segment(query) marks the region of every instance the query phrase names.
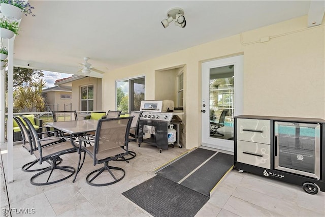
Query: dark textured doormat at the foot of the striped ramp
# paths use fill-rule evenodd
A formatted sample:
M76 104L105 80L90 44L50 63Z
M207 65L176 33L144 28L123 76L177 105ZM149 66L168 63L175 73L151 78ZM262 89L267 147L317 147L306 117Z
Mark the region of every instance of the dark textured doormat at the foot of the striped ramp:
M153 216L194 216L209 200L205 195L158 175L122 195Z

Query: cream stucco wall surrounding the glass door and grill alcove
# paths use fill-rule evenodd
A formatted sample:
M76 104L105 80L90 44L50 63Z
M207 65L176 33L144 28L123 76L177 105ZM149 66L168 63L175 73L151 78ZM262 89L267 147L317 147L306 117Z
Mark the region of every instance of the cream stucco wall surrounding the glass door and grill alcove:
M202 63L243 54L243 114L325 119L324 25L306 26L303 16L112 70L103 78L105 98L115 99L116 79L145 75L146 99L155 99L155 71L186 65L186 148L200 146ZM114 108L104 100L105 110Z

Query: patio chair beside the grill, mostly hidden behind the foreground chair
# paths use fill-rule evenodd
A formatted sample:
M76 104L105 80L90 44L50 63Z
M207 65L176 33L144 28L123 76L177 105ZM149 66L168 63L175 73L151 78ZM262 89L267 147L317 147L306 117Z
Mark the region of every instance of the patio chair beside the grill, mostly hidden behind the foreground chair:
M130 132L129 132L129 137L128 137L129 142L137 142L139 120L140 120L141 114L142 114L142 111L132 111L129 115L129 116L133 116ZM115 161L128 161L128 160L134 159L136 156L137 156L136 152L129 150L127 156L124 156L124 158L118 158Z

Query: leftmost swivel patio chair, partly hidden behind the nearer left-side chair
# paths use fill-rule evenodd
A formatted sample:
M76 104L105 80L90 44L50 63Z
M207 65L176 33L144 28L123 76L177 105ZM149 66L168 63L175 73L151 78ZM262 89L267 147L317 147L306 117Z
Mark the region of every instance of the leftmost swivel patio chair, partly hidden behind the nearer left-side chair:
M27 150L29 152L29 154L32 154L34 150L37 150L38 147L34 145L34 143L32 143L32 139L31 139L31 135L29 133L29 130L27 129L27 127L24 125L23 121L19 118L19 117L15 117L14 119L16 120L18 126L20 127L21 132L23 132L23 138L24 138L24 143L22 145L22 147ZM27 125L27 123L26 123ZM47 132L44 132L44 134L46 134ZM43 133L41 133L43 134ZM38 133L38 135L40 135L40 133ZM39 136L40 137L40 136ZM39 138L38 137L38 138ZM61 139L57 138L57 137L47 137L46 141L42 141L41 145L43 146L47 146L47 145L52 145L55 143L60 142ZM30 169L32 166L34 166L36 163L38 162L38 160L34 160L32 162L29 162L25 165L23 165L21 167L21 170L24 172L36 172L36 171L41 171L44 170L46 168L39 168L39 169ZM61 161L58 162L58 164L61 163Z

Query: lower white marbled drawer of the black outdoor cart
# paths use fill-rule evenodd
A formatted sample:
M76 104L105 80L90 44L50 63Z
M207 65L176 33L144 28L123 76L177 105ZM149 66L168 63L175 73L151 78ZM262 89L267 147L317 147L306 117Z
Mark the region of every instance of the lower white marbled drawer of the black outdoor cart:
M267 144L237 140L237 162L270 169L270 149Z

